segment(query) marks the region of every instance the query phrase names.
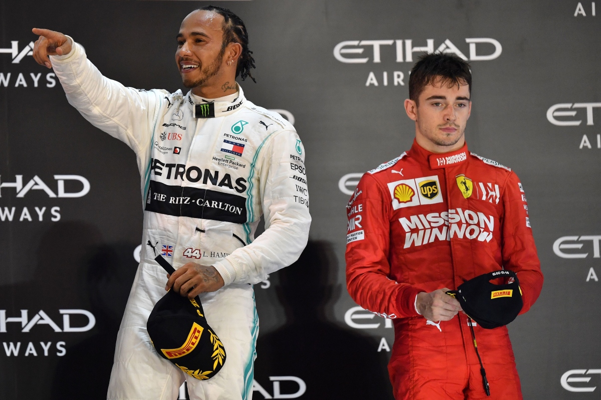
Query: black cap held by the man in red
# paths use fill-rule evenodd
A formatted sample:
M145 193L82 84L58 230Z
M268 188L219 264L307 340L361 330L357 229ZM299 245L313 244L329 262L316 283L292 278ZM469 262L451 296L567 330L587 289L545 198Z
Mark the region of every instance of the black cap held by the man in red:
M496 278L505 278L507 283L496 285L490 282ZM456 297L463 312L484 329L507 325L516 319L523 306L517 275L509 270L476 276L447 294Z

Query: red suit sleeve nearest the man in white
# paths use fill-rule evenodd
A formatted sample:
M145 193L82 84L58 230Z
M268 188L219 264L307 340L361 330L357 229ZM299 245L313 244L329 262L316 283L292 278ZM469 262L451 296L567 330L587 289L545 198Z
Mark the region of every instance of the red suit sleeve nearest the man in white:
M347 205L346 282L355 302L391 318L415 317L415 296L421 291L388 278L391 199L369 173Z

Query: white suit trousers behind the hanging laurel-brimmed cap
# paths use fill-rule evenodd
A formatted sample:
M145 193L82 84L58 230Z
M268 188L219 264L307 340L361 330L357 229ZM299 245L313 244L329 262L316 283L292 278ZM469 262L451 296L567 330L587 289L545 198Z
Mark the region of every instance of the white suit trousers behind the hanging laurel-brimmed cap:
M146 330L154 305L165 295L166 272L141 263L117 336L107 399L176 400L188 382L191 400L251 400L258 315L252 285L229 285L200 300L224 344L223 368L209 380L192 378L156 353Z

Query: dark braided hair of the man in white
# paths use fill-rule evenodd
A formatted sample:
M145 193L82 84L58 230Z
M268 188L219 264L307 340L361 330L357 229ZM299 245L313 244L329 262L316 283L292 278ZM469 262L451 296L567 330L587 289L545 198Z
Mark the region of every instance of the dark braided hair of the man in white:
M206 5L197 8L197 11L215 11L224 17L224 42L221 49L224 51L228 44L239 43L240 46L242 46L242 54L238 59L236 77L240 76L242 80L245 80L246 77L250 77L252 82L257 83L255 78L251 75L251 68L257 67L255 67L255 59L252 58L251 50L248 50L248 32L246 32L246 26L244 25L244 22L242 22L242 19L227 8L217 7L216 5Z

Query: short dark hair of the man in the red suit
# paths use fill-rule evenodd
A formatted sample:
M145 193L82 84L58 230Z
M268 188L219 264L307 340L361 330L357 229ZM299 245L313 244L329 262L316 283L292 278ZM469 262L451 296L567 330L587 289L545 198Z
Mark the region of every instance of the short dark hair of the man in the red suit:
M454 54L432 53L419 58L409 75L409 98L418 103L421 92L427 85L441 80L443 85L468 85L472 93L472 73L469 64Z

